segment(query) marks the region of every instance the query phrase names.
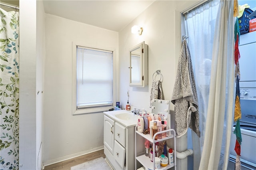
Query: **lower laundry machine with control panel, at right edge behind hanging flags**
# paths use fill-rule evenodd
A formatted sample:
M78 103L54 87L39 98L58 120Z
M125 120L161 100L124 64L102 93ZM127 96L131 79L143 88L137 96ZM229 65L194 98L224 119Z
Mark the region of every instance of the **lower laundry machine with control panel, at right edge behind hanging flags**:
M256 170L256 87L249 87L250 83L252 82L246 85L246 82L244 82L247 87L240 87L242 112L242 119L240 119L242 135L240 161L245 169ZM234 124L230 140L230 161L232 162L236 160L234 150L236 144L235 127Z

